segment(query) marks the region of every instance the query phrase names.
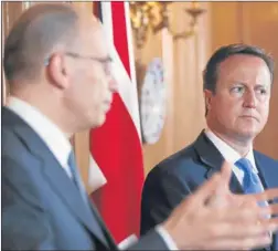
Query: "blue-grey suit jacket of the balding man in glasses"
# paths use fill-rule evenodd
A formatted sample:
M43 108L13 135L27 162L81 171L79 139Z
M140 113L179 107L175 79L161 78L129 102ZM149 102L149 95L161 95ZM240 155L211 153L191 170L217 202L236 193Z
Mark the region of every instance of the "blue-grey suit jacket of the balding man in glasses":
M117 250L95 207L85 207L45 143L6 107L1 230L3 250ZM167 249L156 231L130 249L152 248Z

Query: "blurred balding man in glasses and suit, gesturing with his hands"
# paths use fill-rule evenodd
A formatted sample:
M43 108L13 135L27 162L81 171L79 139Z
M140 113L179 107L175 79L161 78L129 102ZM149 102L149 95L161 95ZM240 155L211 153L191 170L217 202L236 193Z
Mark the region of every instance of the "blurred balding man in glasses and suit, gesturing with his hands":
M117 249L88 200L68 140L105 122L117 90L109 62L99 22L70 4L34 6L11 29L3 60L11 90L2 108L3 250ZM130 249L242 249L269 243L261 234L274 231L278 222L261 213L278 209L261 209L254 201L278 196L278 190L256 198L233 196L225 189L228 168L223 170ZM231 208L207 202L226 201L215 194L217 188L234 198ZM243 203L243 198L249 202ZM203 223L207 217L211 220ZM245 226L235 232L242 222ZM221 229L221 234L211 234L213 229Z

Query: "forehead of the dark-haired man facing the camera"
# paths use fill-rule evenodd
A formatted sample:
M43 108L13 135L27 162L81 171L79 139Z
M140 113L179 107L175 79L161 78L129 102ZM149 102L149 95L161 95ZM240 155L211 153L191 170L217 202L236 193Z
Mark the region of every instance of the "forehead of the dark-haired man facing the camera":
M236 54L223 61L218 66L218 77L223 79L269 79L270 72L266 62L254 55Z

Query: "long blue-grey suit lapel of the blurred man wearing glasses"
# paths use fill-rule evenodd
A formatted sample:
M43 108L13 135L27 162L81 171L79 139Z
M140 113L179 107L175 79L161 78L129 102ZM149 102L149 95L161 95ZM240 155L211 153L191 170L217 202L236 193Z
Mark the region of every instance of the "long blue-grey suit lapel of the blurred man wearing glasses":
M106 240L97 231L98 222L94 219L92 212L85 207L79 191L74 182L67 177L54 155L51 153L45 143L26 125L18 115L7 108L2 108L6 116L7 125L13 129L25 147L42 160L42 172L45 180L60 196L61 200L67 206L74 217L84 224L104 245L107 247ZM101 226L105 229L104 226Z

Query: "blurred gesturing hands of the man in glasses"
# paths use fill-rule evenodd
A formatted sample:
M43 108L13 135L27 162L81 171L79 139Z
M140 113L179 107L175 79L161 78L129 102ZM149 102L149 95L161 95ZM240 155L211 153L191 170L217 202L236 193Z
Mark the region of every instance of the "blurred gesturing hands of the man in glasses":
M277 231L278 206L259 207L258 201L278 197L278 189L259 195L233 195L228 189L232 168L225 163L192 196L178 206L163 223L179 249L248 250L271 243Z

